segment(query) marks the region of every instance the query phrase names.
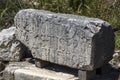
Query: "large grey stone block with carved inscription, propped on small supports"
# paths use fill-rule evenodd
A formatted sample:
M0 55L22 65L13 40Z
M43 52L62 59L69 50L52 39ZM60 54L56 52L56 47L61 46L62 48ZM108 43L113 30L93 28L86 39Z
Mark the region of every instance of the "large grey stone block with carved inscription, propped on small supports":
M93 70L111 60L114 53L111 25L97 18L27 9L14 20L17 39L37 59Z

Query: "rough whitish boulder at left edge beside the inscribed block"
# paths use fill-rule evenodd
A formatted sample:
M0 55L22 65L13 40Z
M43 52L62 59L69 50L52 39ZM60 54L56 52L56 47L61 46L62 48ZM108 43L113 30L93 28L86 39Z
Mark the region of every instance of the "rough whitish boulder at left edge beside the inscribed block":
M15 38L15 27L0 32L0 61L19 61L25 47Z

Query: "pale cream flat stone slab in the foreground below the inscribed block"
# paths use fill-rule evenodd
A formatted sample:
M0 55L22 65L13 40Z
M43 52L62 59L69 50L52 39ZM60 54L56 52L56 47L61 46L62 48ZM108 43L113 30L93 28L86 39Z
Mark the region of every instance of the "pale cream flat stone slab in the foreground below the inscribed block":
M4 73L4 80L77 80L72 74L40 69L27 62L11 63Z

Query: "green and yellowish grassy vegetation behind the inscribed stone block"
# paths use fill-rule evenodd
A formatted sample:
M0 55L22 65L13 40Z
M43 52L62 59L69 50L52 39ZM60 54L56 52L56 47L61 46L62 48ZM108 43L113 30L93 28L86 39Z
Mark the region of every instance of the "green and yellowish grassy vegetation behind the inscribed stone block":
M59 13L69 13L96 17L108 21L114 30L120 30L120 1L113 0L1 0L0 29L13 24L15 14L20 9L44 9ZM34 2L38 4L35 5ZM120 49L119 36L116 38L116 48Z

